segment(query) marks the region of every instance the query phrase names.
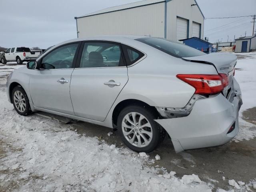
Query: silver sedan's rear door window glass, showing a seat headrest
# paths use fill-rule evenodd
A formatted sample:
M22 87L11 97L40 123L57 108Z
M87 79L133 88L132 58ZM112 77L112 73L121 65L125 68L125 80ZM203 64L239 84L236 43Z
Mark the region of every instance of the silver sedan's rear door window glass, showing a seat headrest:
M84 44L80 68L125 66L120 46L105 42Z

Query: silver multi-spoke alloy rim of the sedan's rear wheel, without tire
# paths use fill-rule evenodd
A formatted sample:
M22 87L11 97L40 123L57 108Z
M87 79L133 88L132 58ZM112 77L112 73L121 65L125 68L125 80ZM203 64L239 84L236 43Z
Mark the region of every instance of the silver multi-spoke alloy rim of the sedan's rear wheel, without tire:
M130 112L122 120L122 132L128 142L136 147L146 147L153 136L148 119L138 112Z

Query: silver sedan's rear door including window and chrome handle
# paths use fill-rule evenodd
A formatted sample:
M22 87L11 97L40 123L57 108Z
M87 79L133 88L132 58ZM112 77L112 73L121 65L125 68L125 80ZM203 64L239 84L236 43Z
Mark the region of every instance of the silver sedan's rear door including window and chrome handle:
M84 42L72 73L70 96L76 116L104 121L128 81L120 44Z

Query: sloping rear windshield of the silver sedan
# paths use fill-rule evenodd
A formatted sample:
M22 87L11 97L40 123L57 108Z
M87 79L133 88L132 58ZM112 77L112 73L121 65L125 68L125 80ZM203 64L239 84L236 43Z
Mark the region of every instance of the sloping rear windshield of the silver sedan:
M163 39L163 38L147 37L147 38L139 38L136 40L178 58L194 57L194 56L200 56L205 54L204 52L199 51L190 46L177 43L174 41L170 41L167 39Z

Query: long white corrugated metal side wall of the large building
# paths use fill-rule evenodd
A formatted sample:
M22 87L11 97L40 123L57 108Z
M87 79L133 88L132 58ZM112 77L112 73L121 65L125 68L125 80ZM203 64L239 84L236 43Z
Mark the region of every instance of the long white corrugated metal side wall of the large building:
M164 37L164 2L77 18L78 37L151 35Z

